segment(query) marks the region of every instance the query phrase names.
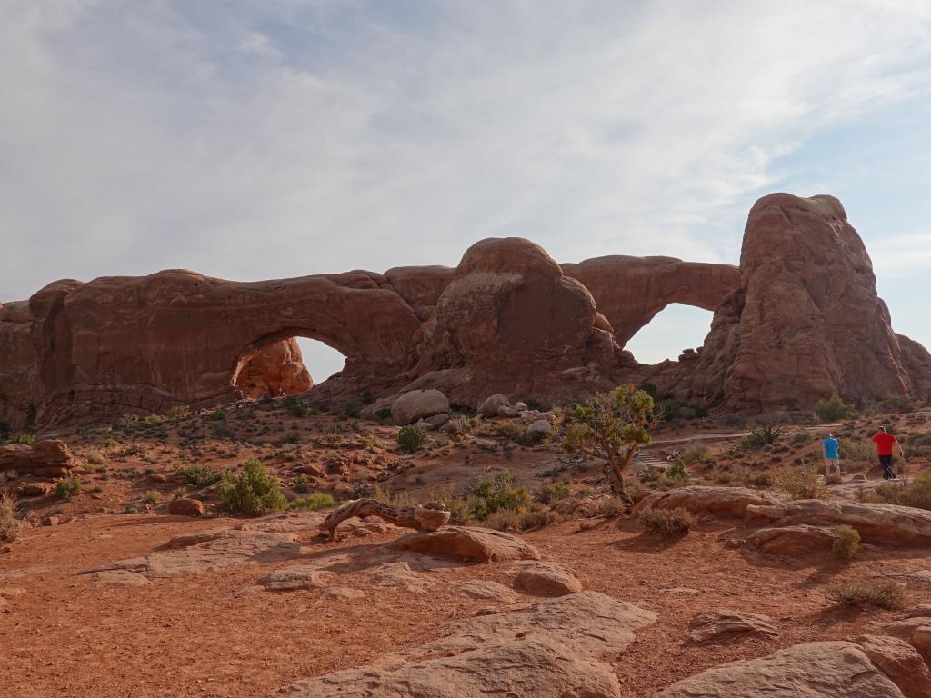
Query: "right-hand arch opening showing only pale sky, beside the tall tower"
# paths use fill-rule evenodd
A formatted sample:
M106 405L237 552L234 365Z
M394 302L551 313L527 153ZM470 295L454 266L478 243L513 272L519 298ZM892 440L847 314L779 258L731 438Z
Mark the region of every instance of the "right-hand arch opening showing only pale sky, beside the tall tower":
M641 363L676 361L685 349L697 349L711 329L710 310L669 303L625 345Z

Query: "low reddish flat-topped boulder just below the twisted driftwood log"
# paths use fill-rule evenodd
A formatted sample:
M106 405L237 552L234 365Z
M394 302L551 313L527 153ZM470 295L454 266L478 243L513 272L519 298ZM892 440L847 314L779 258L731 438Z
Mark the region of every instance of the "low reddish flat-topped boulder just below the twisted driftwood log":
M466 526L444 526L439 530L412 533L390 544L395 550L410 550L433 557L450 557L476 562L537 560L532 545L501 530Z

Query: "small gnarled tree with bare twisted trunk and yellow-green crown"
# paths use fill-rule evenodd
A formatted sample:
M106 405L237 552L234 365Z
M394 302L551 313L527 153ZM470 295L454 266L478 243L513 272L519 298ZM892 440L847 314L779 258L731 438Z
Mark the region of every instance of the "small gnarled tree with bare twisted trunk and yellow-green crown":
M618 385L610 393L596 393L588 402L573 407L567 416L562 448L604 459L614 495L630 504L624 470L641 446L650 443L650 432L658 422L649 393L630 383Z

